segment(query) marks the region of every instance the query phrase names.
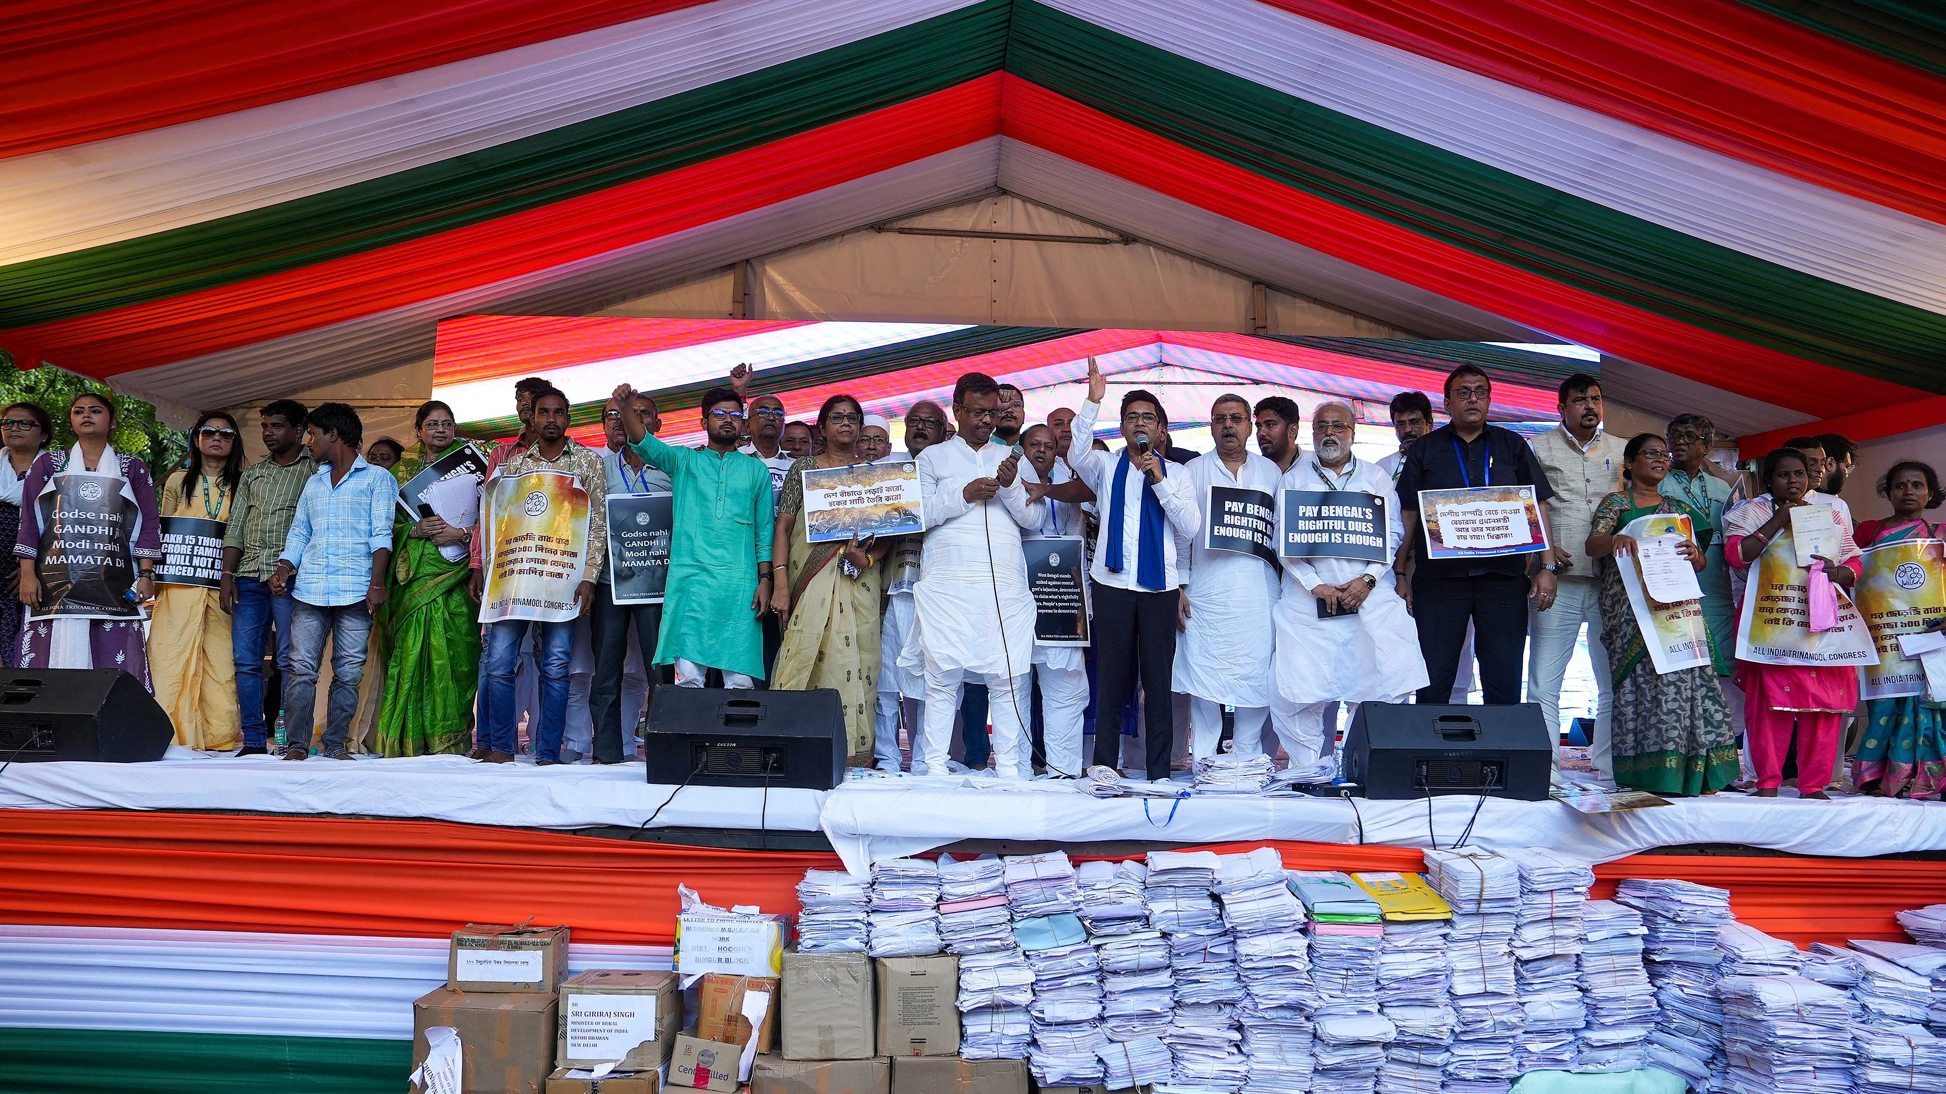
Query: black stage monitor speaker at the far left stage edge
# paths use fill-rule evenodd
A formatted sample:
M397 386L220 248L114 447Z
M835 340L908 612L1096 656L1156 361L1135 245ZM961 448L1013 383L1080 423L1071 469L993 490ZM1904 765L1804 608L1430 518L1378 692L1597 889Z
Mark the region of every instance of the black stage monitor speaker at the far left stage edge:
M0 763L162 759L169 714L119 668L0 668Z

